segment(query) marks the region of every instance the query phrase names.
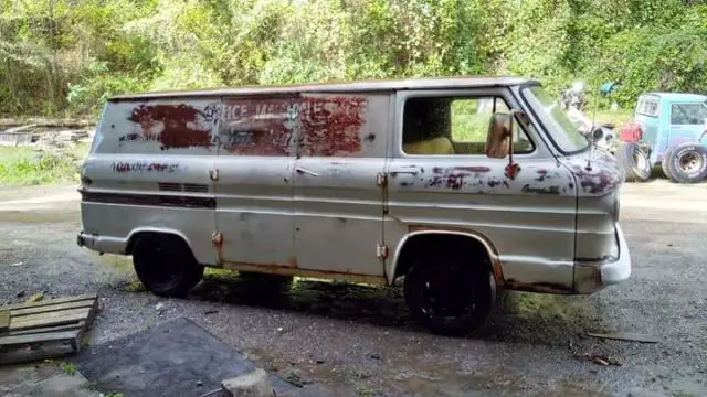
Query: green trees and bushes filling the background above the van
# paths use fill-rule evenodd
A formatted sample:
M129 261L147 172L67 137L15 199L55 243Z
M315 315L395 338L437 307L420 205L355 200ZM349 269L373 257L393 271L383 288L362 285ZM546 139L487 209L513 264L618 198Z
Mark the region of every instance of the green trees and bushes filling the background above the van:
M572 79L632 107L707 90L687 0L0 0L0 114L97 116L152 89L468 74ZM602 104L608 105L608 100Z

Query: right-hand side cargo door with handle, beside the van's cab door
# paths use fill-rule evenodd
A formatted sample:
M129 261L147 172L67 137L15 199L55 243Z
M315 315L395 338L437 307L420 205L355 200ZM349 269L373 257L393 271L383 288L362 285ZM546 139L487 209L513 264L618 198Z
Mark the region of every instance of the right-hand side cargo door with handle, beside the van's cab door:
M297 267L382 281L389 95L303 95L294 164ZM303 273L307 273L303 271Z

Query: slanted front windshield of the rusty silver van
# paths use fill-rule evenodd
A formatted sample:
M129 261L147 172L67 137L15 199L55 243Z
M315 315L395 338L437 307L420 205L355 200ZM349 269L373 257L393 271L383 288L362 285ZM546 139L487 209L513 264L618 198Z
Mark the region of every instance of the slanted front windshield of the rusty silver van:
M527 105L540 118L555 146L564 154L582 151L589 147L589 140L578 130L567 112L540 86L523 90Z

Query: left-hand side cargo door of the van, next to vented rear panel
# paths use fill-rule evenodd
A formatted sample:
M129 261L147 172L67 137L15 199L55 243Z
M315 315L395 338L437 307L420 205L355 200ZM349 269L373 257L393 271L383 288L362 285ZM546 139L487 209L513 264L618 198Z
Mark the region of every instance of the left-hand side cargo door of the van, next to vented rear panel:
M295 267L295 97L224 97L215 169L219 261Z

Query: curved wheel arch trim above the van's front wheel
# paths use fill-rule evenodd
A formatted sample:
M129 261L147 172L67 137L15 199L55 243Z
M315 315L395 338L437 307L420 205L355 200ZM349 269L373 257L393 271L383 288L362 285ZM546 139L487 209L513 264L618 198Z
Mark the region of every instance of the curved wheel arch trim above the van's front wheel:
M390 271L387 271L388 282L392 285L395 281L395 279L403 276L407 269L409 268L410 265L404 262L403 255L407 253L407 250L415 249L414 248L415 239L419 239L421 237L445 237L445 236L455 237L455 238L461 237L465 239L466 243L471 243L483 248L483 250L486 253L490 261L490 270L494 275L496 285L503 286L504 275L500 266L500 260L498 259L498 251L496 250L496 248L487 237L474 230L428 228L428 227L422 227L422 228L411 227L410 233L408 233L400 239L400 243L398 244L398 247L395 248L395 253L393 255ZM403 261L401 261L401 259Z

